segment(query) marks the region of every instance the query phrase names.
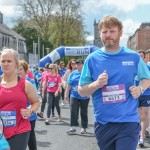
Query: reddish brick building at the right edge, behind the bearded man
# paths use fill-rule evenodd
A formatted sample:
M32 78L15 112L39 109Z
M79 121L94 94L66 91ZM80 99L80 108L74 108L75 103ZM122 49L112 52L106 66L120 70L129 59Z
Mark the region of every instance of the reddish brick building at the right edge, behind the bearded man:
M150 23L142 23L135 33L129 37L128 48L132 50L144 50L147 61L150 62Z

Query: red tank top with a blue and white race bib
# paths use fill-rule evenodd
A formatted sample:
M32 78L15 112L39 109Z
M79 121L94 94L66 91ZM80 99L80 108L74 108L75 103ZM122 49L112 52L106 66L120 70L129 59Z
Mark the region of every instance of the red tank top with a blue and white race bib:
M20 78L18 84L11 88L0 84L0 115L7 139L31 130L29 119L23 119L20 113L20 109L26 108L26 104L25 79Z

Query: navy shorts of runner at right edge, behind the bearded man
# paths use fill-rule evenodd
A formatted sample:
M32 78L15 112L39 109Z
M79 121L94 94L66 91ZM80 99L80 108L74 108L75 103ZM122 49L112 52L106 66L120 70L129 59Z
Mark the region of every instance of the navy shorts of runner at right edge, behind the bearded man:
M138 98L139 106L138 107L149 107L150 106L150 95L141 95Z

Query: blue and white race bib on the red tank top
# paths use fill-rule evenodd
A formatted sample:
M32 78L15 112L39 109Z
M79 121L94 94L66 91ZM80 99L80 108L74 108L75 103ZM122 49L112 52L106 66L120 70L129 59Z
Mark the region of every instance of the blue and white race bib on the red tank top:
M5 127L16 126L16 111L0 111Z

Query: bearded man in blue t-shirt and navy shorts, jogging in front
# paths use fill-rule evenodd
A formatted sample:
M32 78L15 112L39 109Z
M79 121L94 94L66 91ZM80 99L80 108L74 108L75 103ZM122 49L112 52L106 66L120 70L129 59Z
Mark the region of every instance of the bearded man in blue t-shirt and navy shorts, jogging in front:
M140 132L137 98L150 86L150 72L136 52L119 45L121 21L106 16L98 28L104 47L85 60L79 94L92 95L101 150L136 150Z

